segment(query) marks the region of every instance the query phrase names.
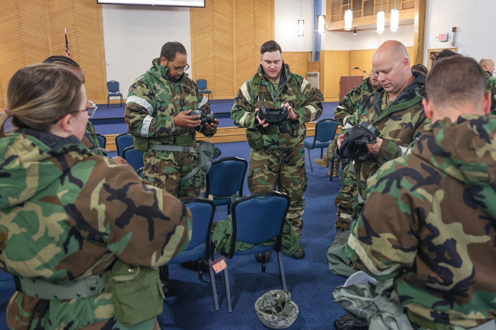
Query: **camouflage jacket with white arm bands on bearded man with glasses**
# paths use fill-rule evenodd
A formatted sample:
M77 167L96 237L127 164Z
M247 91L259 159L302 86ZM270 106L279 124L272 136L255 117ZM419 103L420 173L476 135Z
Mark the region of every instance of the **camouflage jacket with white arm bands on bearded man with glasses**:
M127 128L131 135L148 139L150 144L178 144L170 143L171 136L194 137L195 129L174 125L174 116L181 111L209 107L207 98L186 73L176 82L168 77L168 67L160 65L160 58L156 58L148 71L132 83L127 95ZM204 126L200 129L206 137L215 132Z

